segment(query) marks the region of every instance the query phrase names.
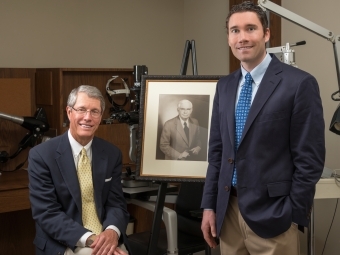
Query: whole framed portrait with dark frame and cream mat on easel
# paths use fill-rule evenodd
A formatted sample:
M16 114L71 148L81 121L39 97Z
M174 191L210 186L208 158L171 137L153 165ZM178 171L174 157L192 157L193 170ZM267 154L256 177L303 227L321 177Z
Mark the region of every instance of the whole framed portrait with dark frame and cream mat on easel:
M142 76L137 180L205 180L212 105L221 77Z

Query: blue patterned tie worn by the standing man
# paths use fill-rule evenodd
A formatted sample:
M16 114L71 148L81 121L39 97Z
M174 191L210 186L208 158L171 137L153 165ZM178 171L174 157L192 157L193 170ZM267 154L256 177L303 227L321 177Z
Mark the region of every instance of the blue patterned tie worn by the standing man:
M235 111L235 152L237 151L238 145L240 143L244 124L246 123L250 105L251 105L253 79L250 73L247 73L245 78L246 78L246 81L241 89L240 97L238 99L238 103L237 103L236 111ZM236 166L234 165L232 185L236 186L236 184L237 184L237 174L236 174Z

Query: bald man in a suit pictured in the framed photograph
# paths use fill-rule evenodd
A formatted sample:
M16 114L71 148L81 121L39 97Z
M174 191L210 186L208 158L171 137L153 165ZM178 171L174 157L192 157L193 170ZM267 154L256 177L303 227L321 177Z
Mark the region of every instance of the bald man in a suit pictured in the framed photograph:
M202 149L200 126L191 117L193 104L187 99L178 102L178 115L164 123L159 147L167 160L197 160Z

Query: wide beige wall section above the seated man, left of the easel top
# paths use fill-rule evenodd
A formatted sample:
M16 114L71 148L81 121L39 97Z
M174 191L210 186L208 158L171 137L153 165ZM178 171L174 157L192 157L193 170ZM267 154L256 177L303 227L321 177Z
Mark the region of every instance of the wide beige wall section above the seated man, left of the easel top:
M177 74L181 0L2 0L0 67L147 65Z

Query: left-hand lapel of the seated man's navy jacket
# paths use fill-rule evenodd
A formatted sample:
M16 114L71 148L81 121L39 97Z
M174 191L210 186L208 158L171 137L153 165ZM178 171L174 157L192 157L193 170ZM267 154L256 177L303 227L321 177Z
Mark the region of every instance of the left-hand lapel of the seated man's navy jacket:
M64 178L67 188L75 201L79 212L81 209L81 195L78 181L77 170L74 164L74 158L70 142L68 140L68 132L61 136L60 144L56 151L56 162L59 170Z

